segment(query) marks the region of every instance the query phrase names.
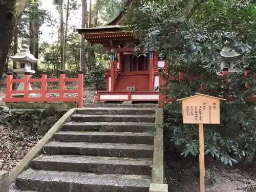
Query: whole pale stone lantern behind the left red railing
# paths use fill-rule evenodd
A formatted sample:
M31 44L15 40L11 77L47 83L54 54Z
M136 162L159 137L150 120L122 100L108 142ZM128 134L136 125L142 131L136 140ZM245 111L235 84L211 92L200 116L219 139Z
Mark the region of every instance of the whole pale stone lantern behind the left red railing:
M19 63L19 68L14 69L13 72L16 73L21 79L24 78L25 72L34 74L35 71L31 70L31 65L36 63L38 59L34 57L29 51L29 46L23 45L19 53L10 57L13 61ZM29 90L32 90L30 85ZM19 83L17 91L24 91L24 83ZM13 94L13 97L23 97L24 94ZM35 97L36 94L29 94L30 97Z

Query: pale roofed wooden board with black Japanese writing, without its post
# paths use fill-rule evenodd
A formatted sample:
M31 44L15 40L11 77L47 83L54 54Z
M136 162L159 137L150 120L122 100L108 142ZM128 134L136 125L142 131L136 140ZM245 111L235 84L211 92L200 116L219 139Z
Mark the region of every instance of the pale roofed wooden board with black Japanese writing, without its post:
M183 123L220 124L220 99L203 94L179 99L182 100Z

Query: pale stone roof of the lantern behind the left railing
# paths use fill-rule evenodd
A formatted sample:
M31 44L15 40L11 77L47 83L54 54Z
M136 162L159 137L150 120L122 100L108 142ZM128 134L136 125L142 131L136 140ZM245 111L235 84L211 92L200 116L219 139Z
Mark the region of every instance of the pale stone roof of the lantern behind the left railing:
M29 63L36 63L38 61L37 58L34 57L29 51L29 46L26 44L22 46L22 50L19 53L16 53L14 56L10 56L10 58L17 62L29 62Z

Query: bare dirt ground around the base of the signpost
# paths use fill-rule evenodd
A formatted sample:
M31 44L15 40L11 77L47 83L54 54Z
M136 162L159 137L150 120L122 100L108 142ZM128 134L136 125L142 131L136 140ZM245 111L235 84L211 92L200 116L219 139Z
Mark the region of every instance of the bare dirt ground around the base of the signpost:
M171 192L198 192L199 168L195 158L184 158L180 153L165 152L166 178ZM256 167L256 166L254 166ZM224 167L210 159L206 162L207 192L255 192L256 168Z

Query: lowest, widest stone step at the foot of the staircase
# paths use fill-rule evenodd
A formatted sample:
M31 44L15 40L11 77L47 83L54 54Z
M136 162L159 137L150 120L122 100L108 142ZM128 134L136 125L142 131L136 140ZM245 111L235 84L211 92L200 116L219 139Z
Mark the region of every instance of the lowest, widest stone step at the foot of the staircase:
M148 192L150 176L28 169L17 177L16 186L40 192Z

